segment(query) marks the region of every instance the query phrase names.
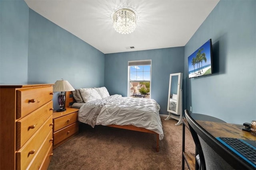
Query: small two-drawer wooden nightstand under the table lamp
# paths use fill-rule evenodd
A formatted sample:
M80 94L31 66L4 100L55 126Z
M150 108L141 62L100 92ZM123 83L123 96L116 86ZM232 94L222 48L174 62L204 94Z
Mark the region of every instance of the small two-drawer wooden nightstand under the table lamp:
M66 108L66 111L53 111L53 149L78 134L78 109Z

